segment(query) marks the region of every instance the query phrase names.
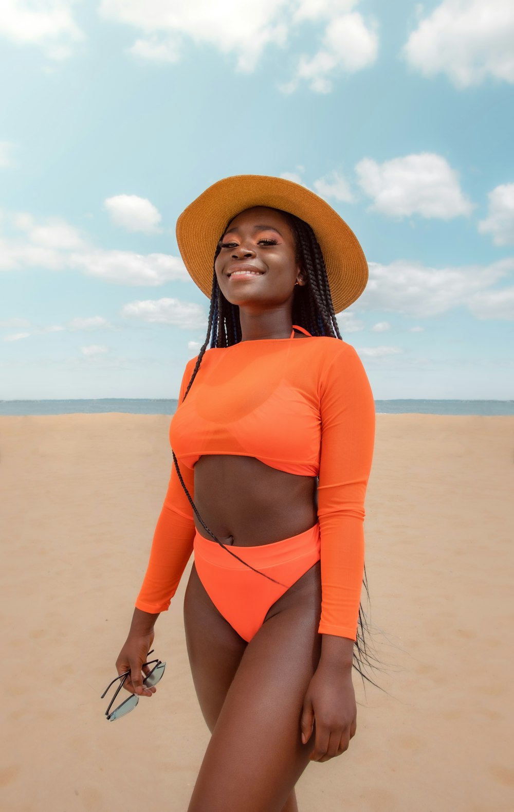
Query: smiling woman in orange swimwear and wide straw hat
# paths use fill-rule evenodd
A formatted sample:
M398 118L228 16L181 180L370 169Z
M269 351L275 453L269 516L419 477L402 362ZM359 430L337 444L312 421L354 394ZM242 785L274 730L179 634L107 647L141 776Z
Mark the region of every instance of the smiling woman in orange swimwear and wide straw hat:
M153 624L194 548L184 624L212 736L188 812L294 812L309 759L343 753L356 732L374 401L335 313L360 296L367 264L325 201L259 175L208 188L177 240L209 326L184 372L174 467L116 667L128 691L155 691L142 684Z

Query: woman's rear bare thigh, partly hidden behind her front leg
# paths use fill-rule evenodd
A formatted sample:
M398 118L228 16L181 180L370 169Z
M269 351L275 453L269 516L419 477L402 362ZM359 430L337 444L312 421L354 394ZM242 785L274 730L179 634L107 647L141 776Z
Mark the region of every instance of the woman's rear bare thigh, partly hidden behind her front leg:
M247 643L220 615L194 564L184 597L184 627L192 680L212 732Z

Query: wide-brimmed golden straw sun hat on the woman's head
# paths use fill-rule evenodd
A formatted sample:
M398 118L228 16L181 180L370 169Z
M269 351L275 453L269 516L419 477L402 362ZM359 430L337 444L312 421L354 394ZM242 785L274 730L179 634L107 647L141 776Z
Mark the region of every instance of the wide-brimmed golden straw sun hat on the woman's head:
M234 175L209 186L177 221L177 243L193 282L210 298L214 252L236 214L268 206L309 223L322 249L335 313L349 307L368 281L361 245L334 209L314 192L291 180L268 175Z

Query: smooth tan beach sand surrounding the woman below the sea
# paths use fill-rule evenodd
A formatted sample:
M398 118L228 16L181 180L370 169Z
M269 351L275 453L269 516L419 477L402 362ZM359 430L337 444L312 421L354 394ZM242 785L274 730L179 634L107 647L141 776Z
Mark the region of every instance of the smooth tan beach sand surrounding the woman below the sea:
M2 812L185 812L208 733L185 577L158 693L106 723L171 465L168 417L0 418ZM514 417L378 417L366 503L383 661L302 812L512 812ZM382 631L381 631L382 630ZM231 810L227 810L231 812Z

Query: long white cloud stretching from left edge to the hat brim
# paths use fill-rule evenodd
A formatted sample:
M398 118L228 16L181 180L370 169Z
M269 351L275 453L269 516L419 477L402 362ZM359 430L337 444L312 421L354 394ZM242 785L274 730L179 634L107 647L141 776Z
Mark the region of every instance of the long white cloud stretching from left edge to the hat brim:
M18 213L10 214L8 219L24 233L15 237L0 235L0 270L78 269L106 282L130 286L191 281L179 257L94 248L60 218L37 223L31 214Z

